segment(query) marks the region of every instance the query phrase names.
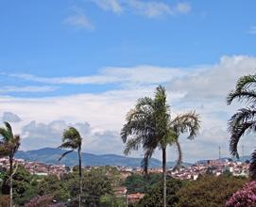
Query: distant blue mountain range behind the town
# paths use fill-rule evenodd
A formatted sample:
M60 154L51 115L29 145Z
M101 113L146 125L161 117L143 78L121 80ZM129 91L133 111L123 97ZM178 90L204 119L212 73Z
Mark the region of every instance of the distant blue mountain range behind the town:
M72 152L65 156L60 162L58 159L65 150L55 148L43 148L34 151L17 151L16 158L25 159L26 161L40 162L50 165L64 164L69 167L77 165L77 152ZM96 155L93 153L82 152L83 166L123 166L123 167L140 167L141 158L126 157L116 154ZM190 163L183 163L182 166L191 166ZM174 167L175 162L168 162L167 167ZM152 158L149 167L162 167L162 162Z

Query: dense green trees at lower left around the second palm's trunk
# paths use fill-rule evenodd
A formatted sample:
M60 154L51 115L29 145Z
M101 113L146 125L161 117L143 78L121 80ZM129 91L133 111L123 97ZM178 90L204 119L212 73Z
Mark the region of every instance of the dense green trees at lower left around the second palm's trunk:
M99 206L102 196L109 195L112 197L112 185L116 182L117 173L117 170L112 167L99 167L91 171L83 171L82 199L85 200L83 202L85 206ZM8 174L4 176L2 195L9 194L9 186L5 183L7 178ZM68 206L77 206L77 195L79 195L78 181L78 170L58 178L55 175L41 177L31 175L24 167L19 167L15 176L13 176L14 203L18 206L22 206L38 195L50 195L52 200L54 199L60 203L64 202L68 204ZM44 197L44 199L46 198ZM6 197L2 197L0 200L6 199ZM38 199L42 200L43 198Z

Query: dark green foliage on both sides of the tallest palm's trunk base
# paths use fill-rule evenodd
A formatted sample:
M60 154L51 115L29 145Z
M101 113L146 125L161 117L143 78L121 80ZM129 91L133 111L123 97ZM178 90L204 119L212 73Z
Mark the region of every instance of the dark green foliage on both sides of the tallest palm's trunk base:
M174 206L179 197L176 195L185 182L169 178L166 182L166 203L167 206ZM162 182L156 183L152 189L138 203L140 207L162 207Z

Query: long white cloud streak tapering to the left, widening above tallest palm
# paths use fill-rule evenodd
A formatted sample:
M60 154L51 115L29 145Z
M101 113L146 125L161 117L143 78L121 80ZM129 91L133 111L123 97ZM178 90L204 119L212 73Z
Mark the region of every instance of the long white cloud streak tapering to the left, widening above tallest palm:
M79 77L53 77L46 78L31 74L9 74L11 77L21 78L44 84L159 84L171 81L175 77L182 76L183 72L176 68L162 68L154 66L137 66L133 68L106 68L97 75ZM143 78L142 78L143 77Z

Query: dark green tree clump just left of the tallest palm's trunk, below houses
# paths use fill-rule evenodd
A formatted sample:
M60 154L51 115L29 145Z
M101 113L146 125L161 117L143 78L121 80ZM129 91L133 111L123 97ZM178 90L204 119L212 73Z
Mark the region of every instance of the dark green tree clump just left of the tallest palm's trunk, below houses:
M162 181L162 174L152 173L146 177L140 174L132 174L128 176L123 184L128 188L128 193L147 193L153 184L160 181Z

